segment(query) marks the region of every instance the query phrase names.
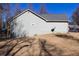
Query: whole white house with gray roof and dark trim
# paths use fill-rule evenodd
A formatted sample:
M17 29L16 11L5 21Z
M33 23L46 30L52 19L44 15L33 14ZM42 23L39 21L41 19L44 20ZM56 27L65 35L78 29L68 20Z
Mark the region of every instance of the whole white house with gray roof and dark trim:
M38 15L31 10L25 10L13 17L11 31L16 37L68 32L68 22L65 16L57 16L56 19L53 17L52 14Z

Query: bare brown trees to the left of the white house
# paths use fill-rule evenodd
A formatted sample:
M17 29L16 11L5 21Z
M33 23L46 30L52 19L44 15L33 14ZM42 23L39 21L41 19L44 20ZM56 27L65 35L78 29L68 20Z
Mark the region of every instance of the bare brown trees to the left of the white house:
M21 9L19 8L19 4L16 3L14 5L15 5L15 7L13 7L14 12L12 12L14 13L13 16L21 12ZM10 35L10 23L9 23L10 20L9 19L13 17L11 15L12 13L11 13L11 4L9 3L0 4L0 35L2 34L6 34L6 36Z

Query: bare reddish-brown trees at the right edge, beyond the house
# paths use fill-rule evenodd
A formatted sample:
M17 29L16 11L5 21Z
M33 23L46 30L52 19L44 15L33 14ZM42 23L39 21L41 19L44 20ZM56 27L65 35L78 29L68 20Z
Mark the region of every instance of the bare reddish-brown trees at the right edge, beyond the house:
M74 25L73 31L79 32L79 6L72 14L72 24Z

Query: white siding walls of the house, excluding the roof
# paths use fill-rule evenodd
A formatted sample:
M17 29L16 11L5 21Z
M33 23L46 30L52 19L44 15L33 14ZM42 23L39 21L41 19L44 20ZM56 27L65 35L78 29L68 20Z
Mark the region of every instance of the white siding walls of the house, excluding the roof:
M14 23L12 32L16 37L51 33L54 27L55 32L68 32L67 23L49 23L29 11L14 19L12 23Z

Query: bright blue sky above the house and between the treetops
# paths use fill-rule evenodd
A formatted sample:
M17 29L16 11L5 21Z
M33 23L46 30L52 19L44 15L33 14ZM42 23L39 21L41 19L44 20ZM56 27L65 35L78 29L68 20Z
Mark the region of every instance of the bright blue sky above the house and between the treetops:
M46 3L45 8L49 14L66 14L68 19L71 17L73 12L79 6L78 3ZM14 4L11 4L11 9L13 10ZM20 3L21 9L27 9L27 3ZM40 3L33 3L33 10L36 13L39 13ZM13 12L13 11L12 11Z

